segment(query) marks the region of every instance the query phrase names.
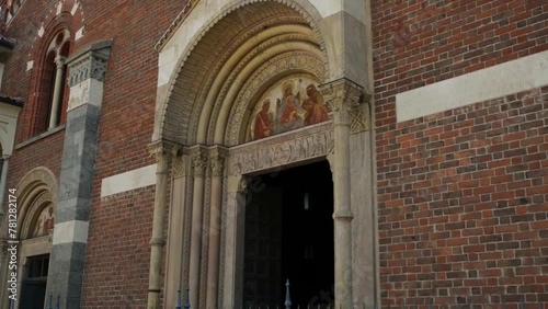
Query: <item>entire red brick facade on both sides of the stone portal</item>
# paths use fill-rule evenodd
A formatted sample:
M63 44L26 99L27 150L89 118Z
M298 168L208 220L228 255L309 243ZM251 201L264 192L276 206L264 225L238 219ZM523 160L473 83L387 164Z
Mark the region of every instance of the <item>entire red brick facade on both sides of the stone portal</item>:
M64 10L73 8L69 2ZM146 308L155 187L101 197L101 185L155 163L147 149L158 79L153 46L185 2L84 0L70 19L73 35L83 28L71 53L113 39L82 308ZM65 129L28 142L41 87L37 33L60 22L58 3L27 0L3 30L16 47L2 94L25 101L8 187L36 167L60 175ZM396 119L398 93L548 50L548 4L373 0L372 21L381 306L548 302L548 88Z

